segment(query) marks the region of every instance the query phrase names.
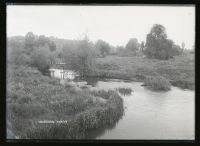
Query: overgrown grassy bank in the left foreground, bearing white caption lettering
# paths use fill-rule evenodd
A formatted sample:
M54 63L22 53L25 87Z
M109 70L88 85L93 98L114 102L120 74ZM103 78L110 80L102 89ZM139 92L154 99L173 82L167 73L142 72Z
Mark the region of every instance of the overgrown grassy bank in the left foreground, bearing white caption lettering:
M35 68L8 65L8 128L24 139L85 138L89 130L112 125L123 115L121 97L114 91L105 94L62 86ZM44 120L54 124L39 123Z

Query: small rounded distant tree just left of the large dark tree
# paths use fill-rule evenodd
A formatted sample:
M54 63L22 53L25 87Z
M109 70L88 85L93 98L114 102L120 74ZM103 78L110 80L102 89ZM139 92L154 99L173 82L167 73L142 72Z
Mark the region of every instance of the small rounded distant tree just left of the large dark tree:
M126 50L127 51L131 51L134 54L137 53L137 51L139 50L140 44L138 43L138 40L136 38L132 38L128 41L128 43L126 44Z

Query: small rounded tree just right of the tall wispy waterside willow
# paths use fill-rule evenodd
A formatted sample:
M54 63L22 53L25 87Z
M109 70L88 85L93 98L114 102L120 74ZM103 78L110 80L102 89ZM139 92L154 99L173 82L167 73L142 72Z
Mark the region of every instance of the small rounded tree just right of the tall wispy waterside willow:
M102 57L105 57L111 51L110 45L103 40L98 40L95 44L95 48L99 51Z

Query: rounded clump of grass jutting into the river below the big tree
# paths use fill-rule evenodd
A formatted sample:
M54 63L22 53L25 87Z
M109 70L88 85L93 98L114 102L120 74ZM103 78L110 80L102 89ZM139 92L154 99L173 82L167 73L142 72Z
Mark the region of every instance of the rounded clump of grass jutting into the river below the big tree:
M162 77L162 76L148 76L144 80L144 86L151 90L157 90L157 91L168 91L171 89L171 84L170 82Z

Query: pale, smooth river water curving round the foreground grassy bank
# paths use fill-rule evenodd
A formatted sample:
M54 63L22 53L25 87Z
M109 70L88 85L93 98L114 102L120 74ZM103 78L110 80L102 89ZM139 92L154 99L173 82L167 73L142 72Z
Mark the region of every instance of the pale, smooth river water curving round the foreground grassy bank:
M129 87L131 95L121 95L125 112L112 128L98 129L89 139L192 140L195 125L195 94L178 87L154 92L141 82L123 80L87 80L92 90Z

